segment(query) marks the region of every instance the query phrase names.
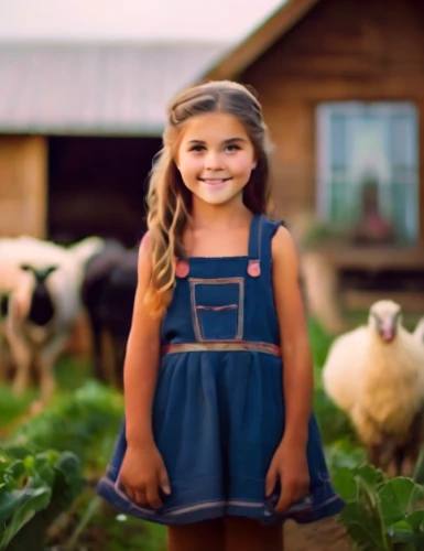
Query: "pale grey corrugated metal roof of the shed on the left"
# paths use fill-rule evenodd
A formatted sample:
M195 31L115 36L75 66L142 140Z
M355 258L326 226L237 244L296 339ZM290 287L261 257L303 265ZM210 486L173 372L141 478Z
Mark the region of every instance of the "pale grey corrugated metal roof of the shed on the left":
M222 44L0 44L0 132L159 134Z

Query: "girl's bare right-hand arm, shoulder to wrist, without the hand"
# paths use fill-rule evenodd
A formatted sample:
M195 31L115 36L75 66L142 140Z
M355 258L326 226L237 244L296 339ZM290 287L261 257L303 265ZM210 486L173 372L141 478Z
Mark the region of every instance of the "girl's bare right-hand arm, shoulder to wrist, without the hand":
M298 285L298 259L289 231L272 240L273 289L284 363L284 441L305 447L313 399L313 360Z

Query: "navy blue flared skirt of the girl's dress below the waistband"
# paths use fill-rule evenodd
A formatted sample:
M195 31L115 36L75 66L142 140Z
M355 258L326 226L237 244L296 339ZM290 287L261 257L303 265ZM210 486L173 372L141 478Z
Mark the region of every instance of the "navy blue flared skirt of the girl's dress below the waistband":
M319 430L312 415L307 460L309 494L284 515L274 506L283 488L265 496L265 476L284 432L281 359L262 353L189 353L165 356L153 407L153 433L171 495L153 510L132 501L119 472L127 449L124 422L98 493L121 511L164 525L227 515L281 523L311 522L339 512Z

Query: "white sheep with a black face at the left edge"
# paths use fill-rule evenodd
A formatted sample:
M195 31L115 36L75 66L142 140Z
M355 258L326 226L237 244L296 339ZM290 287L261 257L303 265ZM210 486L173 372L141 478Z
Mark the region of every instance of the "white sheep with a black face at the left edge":
M67 249L31 237L0 241L0 291L9 293L3 331L15 366L13 390L17 395L25 390L35 364L41 402L34 410L46 404L53 392L55 364L81 313L84 266L102 245L99 238ZM47 276L39 280L43 272ZM43 322L37 322L40 315Z

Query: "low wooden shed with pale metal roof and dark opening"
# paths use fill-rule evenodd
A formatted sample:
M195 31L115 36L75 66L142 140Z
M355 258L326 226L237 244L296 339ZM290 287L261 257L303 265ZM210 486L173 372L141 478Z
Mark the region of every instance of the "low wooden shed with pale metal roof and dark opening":
M226 44L0 44L0 236L133 246L168 100Z

